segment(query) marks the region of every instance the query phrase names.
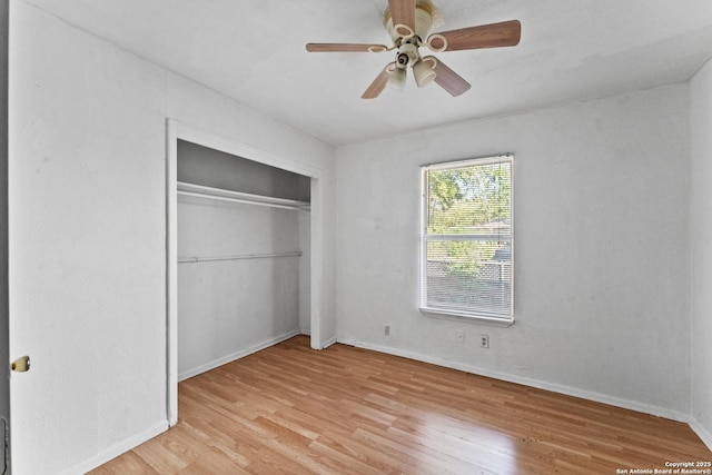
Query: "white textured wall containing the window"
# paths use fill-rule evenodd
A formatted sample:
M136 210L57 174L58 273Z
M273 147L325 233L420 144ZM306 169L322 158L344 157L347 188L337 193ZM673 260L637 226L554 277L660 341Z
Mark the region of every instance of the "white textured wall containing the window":
M502 152L516 323L421 315L418 166ZM339 149L339 340L689 417L689 152L686 86Z

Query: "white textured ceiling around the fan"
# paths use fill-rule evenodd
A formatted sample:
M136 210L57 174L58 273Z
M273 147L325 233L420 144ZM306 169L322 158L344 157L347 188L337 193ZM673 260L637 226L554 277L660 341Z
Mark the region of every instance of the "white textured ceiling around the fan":
M518 19L517 47L437 53L472 83L360 95L387 0L21 0L334 146L680 82L712 56L712 0L435 0L437 31Z

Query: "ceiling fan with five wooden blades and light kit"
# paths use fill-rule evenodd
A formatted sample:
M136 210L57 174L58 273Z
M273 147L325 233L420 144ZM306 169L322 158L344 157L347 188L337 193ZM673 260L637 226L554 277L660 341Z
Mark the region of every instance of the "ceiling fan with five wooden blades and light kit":
M405 88L406 71L411 67L419 88L435 81L456 97L471 86L459 75L434 56L422 57L421 47L433 52L466 49L501 48L518 44L522 24L518 20L482 24L431 34L442 24L438 9L431 0L388 0L383 24L390 34L393 46L368 43L308 43L309 52L384 52L396 51L396 60L386 65L363 99L377 98L386 86L398 90ZM424 40L425 39L425 40Z

